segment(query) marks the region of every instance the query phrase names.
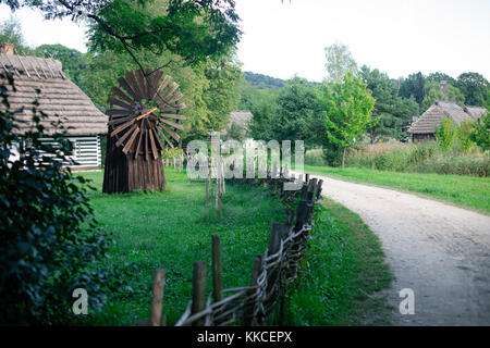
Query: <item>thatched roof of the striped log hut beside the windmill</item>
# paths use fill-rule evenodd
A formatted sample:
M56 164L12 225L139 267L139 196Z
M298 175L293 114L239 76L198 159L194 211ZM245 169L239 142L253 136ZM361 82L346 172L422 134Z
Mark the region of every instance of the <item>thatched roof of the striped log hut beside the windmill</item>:
M32 108L36 99L39 102L38 111L48 115L41 122L48 135L56 130L51 125L53 121L61 121L71 136L107 133L108 117L64 76L60 61L0 53L0 71L2 75L9 72L14 77L16 91L4 77L0 77L1 84L10 91L11 110L25 108L16 115L16 120L26 122L20 123L22 133L32 126ZM36 90L40 90L40 94Z

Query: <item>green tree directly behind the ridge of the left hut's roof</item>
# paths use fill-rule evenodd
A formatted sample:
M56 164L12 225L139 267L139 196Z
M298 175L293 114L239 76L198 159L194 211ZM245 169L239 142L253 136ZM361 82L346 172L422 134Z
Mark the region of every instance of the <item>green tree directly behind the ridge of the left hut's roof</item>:
M59 60L63 65L64 74L76 85L79 86L82 84L83 75L87 71L87 62L84 53L60 44L41 45L34 51L36 54L52 57Z

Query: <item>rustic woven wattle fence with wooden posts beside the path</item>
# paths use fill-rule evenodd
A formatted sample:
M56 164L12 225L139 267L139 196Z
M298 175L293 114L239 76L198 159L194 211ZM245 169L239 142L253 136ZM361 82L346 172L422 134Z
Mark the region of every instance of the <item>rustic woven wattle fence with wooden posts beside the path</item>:
M268 174L272 174L268 177L274 177L274 173ZM316 178L303 182L303 177L295 181L294 176L285 178L286 175L283 174L286 174L286 170L281 169L280 177L277 179L247 179L256 185L266 184L279 191L285 201L299 198L295 212L290 210L284 222L272 223L269 247L255 258L249 285L222 288L221 243L219 235L212 235L213 290L206 297L207 265L204 261L196 261L193 273L193 298L175 326L224 326L236 322L244 326L261 326L266 324L278 302L279 323L283 322L286 285L296 279L297 264L308 248L310 231L315 224L315 204L319 204L322 186L322 181ZM283 184L286 182L303 183L302 189L285 191ZM160 319L164 318L161 315L162 296L155 294L155 289L158 290L162 286L156 285L157 282L160 282L160 277L156 275L150 320L154 326L164 325Z

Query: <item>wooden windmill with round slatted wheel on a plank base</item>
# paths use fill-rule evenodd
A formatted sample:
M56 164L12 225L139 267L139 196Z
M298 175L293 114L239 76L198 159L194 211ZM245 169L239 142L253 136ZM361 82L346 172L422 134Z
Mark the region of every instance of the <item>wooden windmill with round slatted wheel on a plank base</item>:
M161 153L180 141L185 108L179 85L161 71L127 72L109 98L103 192L161 190L166 185Z

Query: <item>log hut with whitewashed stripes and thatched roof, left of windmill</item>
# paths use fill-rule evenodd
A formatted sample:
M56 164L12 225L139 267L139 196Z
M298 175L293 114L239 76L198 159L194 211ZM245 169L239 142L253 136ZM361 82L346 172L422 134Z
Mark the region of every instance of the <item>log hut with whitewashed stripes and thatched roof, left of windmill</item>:
M11 110L24 107L24 111L16 115L16 120L24 121L19 124L21 134L33 126L32 105L37 100L38 112L47 114L41 121L46 134L44 140L52 141L49 136L59 132L52 122L61 121L66 138L73 144L71 159L77 163L66 165L74 171L100 170L100 136L107 134L108 116L63 74L61 62L17 55L13 45L4 44L0 50L0 69L14 78L15 91L4 76L0 78L1 85L9 90Z

